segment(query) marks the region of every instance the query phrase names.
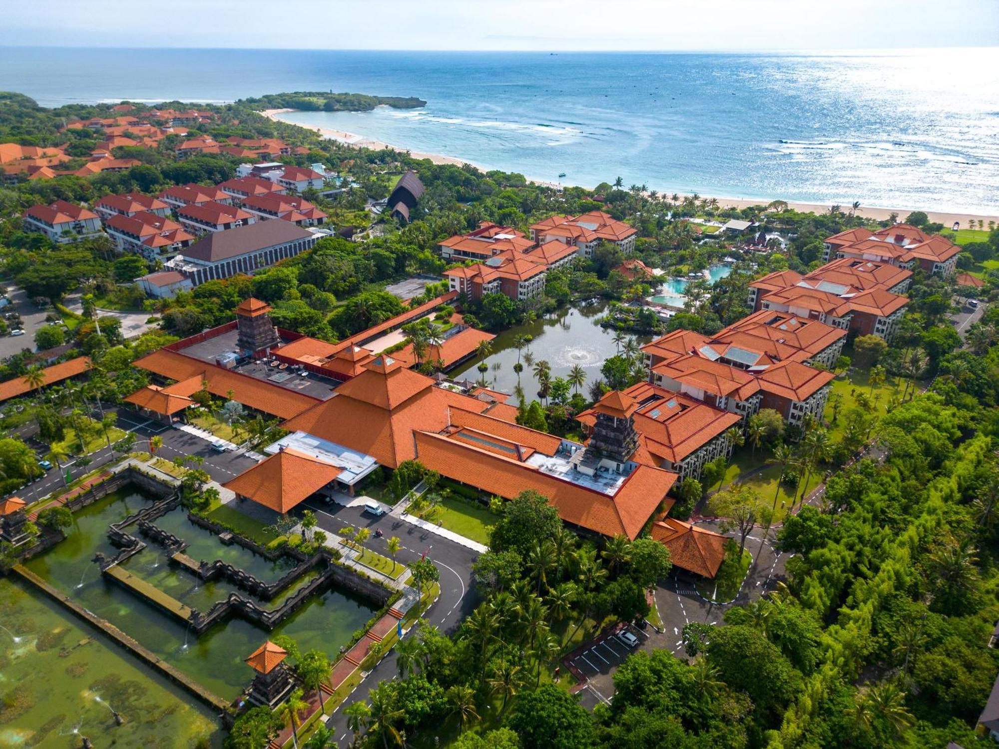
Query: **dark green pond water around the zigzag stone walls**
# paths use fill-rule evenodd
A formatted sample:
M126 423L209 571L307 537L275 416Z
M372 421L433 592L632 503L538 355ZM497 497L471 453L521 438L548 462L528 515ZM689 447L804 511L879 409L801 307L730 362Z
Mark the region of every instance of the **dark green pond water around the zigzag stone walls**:
M269 636L287 634L301 649L319 648L334 658L340 646L349 642L354 632L375 614L376 608L368 601L335 588L313 597L271 633L234 617L196 635L183 622L164 614L121 585L106 580L92 561L96 551L109 556L117 552L107 538L108 525L151 501L152 497L131 487L109 494L76 512L75 523L67 529L66 540L30 560L26 566L220 697L232 699L250 683L253 672L243 659ZM183 513L178 513L180 520L175 520L175 513L171 512L154 523L163 522L185 539L199 537L195 531L200 529ZM204 538L201 538L199 545L203 543ZM204 547L205 558L233 553L234 546L219 542L217 547L215 554ZM240 548L241 553L250 553ZM280 565L262 557L255 563L265 578L280 576ZM173 567L167 562L163 549L152 543L129 560L127 567L170 595L199 608L225 598L230 590L236 589L223 581L205 583L189 572ZM301 584L304 582L300 581L265 605L280 605L281 600Z

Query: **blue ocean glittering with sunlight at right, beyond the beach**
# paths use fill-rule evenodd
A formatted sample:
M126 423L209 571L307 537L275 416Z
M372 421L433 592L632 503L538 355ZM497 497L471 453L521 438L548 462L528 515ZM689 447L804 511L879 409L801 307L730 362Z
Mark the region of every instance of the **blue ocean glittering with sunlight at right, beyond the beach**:
M417 96L427 107L287 119L567 185L620 177L666 194L999 214L999 48L0 48L0 89L46 106L309 90Z

